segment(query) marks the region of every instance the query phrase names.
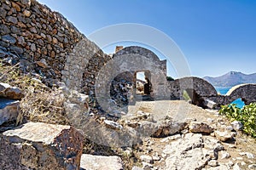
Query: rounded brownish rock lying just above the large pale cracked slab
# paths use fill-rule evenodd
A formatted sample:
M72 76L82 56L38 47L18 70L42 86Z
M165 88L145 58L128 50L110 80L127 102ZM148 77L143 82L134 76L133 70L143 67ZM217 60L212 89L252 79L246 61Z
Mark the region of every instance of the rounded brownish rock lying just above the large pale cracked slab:
M189 130L192 133L212 133L213 128L204 122L190 122Z

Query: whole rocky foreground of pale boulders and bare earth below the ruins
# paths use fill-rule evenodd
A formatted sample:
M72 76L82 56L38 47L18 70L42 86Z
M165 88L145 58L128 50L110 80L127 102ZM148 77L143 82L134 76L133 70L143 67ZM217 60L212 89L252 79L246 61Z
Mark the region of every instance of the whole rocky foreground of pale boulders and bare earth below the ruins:
M63 107L71 126L51 122L46 112L38 115L40 119L28 114L31 119L15 127L12 122L20 115L16 103L22 104L26 99L27 104L30 100L24 98L19 88L1 83L0 95L5 98L1 101L12 99L0 108L3 169L256 169L256 140L241 133L239 122L230 123L218 111L178 100L137 101L136 105L128 106L127 113L116 113L118 117L111 119L86 113L88 96L84 94L65 87L59 88L57 94L67 98L63 99ZM57 94L45 97L45 101L52 102L40 101L41 105L60 110L61 116L62 106L54 103ZM31 107L35 114L37 106ZM67 124L60 122L59 117L56 119ZM4 127L8 120L12 126ZM77 126L85 121L86 126ZM44 160L48 163L43 163Z

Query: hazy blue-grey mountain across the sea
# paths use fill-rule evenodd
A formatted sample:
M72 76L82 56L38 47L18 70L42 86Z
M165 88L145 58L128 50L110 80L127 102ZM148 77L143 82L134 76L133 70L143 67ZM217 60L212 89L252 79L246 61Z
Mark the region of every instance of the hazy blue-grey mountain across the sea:
M256 83L256 73L243 74L241 72L230 71L221 77L203 77L214 87L233 87L243 83Z

